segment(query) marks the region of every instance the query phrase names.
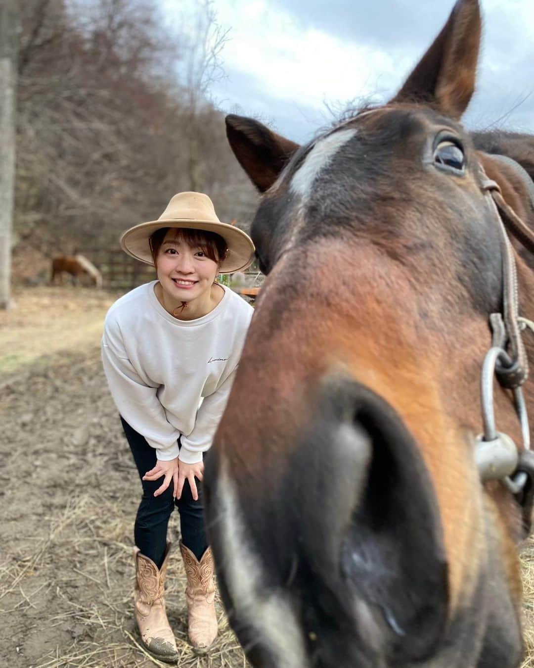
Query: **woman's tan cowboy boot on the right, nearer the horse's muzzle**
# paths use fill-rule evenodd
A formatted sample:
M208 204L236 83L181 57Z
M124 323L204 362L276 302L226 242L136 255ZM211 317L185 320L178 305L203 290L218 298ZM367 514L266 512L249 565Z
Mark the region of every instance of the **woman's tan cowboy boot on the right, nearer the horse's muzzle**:
M217 637L215 614L215 582L212 549L207 548L199 561L193 552L180 542L188 586L188 636L194 649L203 652Z

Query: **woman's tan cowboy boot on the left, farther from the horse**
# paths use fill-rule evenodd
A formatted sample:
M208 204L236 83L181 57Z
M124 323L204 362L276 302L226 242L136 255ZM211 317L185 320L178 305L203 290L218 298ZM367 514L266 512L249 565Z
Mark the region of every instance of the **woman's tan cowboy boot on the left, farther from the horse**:
M136 560L136 587L133 591L133 615L136 618L141 640L148 651L161 661L178 659L176 640L165 611L165 575L170 554L167 543L162 567L134 548Z

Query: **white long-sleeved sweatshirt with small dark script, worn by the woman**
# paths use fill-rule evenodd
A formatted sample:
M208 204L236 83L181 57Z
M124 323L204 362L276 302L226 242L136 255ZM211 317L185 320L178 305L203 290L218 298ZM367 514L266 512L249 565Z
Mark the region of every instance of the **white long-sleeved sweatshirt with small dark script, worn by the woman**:
M254 309L230 289L202 318L178 320L146 283L107 312L102 360L119 413L158 460L202 462L226 406ZM200 406L200 407L199 407Z

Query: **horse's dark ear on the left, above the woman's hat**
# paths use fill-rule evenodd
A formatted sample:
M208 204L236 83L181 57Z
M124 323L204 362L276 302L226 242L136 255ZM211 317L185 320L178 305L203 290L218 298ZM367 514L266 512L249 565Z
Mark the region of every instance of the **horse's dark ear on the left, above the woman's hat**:
M226 136L239 164L260 192L278 178L298 144L252 118L226 116Z

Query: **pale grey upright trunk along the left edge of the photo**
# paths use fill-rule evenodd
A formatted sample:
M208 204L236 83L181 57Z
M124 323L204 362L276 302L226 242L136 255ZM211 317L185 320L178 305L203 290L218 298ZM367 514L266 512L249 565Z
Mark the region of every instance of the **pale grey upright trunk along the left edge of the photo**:
M11 304L19 0L0 0L0 309Z

